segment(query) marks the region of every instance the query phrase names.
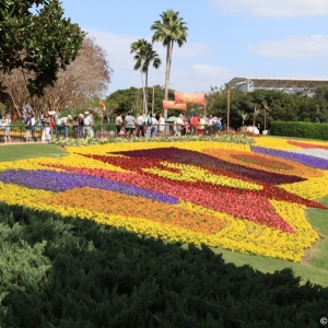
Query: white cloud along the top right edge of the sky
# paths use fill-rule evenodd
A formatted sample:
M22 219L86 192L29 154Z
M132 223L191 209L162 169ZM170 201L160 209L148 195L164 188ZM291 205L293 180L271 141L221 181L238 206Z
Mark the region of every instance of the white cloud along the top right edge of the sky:
M220 11L267 17L328 15L327 0L212 0L210 3Z

